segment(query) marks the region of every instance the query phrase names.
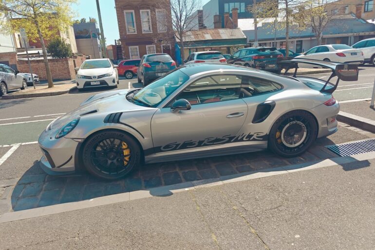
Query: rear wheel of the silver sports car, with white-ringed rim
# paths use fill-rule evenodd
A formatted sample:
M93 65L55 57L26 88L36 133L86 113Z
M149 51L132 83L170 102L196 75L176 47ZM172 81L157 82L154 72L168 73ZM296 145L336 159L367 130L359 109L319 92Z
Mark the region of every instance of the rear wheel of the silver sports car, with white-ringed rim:
M314 143L317 134L318 127L313 115L303 110L291 111L281 116L272 126L268 136L268 149L283 157L296 157Z

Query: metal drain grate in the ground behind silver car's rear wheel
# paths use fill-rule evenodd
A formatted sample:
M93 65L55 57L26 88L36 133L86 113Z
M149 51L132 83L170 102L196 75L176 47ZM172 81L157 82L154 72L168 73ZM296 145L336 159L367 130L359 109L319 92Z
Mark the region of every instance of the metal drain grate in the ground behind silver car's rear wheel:
M349 156L375 151L375 139L325 146L339 156Z

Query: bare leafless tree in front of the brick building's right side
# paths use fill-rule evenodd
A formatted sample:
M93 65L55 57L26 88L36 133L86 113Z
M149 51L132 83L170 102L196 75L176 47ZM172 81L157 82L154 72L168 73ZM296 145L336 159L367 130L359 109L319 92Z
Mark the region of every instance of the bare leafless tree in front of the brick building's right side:
M192 30L198 30L198 9L201 6L200 0L161 0L157 4L157 9L166 10L164 18L157 18L158 25L171 27L172 32L181 44L181 58L184 61L184 38ZM170 15L168 15L170 10ZM158 33L158 35L163 35ZM166 35L169 35L168 31Z

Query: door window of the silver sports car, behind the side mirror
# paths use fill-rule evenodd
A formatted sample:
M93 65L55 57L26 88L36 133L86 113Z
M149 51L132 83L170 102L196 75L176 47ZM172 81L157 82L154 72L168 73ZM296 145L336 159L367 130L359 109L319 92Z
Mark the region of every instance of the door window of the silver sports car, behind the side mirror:
M242 76L209 76L190 84L176 100L186 99L191 105L236 100L240 97Z

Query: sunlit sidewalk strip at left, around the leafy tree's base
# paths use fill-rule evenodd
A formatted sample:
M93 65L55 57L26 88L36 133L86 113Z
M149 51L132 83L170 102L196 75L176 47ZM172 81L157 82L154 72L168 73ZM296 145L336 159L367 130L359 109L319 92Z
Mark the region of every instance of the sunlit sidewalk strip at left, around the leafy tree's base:
M8 95L2 96L3 100L29 98L29 97L45 97L45 96L57 96L68 93L72 88L75 87L75 83L64 83L55 84L53 88L48 88L48 85L36 85L34 87L28 87L27 89L13 92Z

